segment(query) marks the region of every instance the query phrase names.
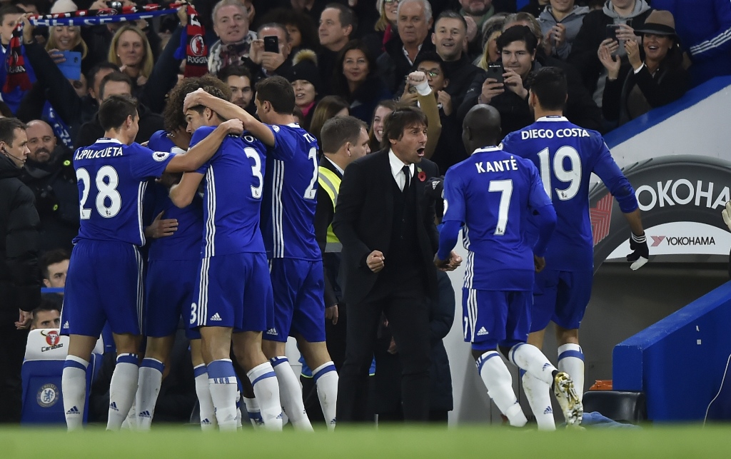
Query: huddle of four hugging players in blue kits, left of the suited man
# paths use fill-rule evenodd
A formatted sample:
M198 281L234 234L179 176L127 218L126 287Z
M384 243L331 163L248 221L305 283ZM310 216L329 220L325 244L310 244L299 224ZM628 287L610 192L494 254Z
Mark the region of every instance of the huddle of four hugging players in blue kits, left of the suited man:
M189 145L159 133L153 150L133 143L135 100L112 96L99 111L106 137L76 153L82 229L61 318L70 336L62 376L69 429L82 423L90 344L105 321L118 353L107 428L120 428L128 415L150 428L181 316L202 428L235 430L240 422L233 349L248 377L241 384L252 422L281 430L284 407L295 428L311 430L284 357L289 335L300 340L334 428L338 377L324 343L322 259L312 225L317 142L294 123L287 80L270 78L258 88L257 111L269 124L227 102L226 90L210 77L181 83L169 104L185 115ZM174 232L145 228L144 206L156 222L163 213L174 219ZM138 247L155 231L172 235L151 244L145 283ZM148 342L138 366L142 335Z

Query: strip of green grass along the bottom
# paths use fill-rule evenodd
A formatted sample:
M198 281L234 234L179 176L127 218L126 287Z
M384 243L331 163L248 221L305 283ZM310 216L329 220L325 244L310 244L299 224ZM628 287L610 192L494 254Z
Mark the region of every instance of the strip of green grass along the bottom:
M455 429L338 428L335 433L201 433L159 428L151 433L67 433L52 428L0 430L0 458L724 458L729 425L555 433L489 425Z

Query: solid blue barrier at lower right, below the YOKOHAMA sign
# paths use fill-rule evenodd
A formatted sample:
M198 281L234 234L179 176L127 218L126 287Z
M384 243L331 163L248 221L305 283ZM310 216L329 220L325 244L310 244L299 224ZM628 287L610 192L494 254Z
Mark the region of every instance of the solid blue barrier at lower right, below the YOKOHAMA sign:
M702 420L731 354L731 281L614 347L613 389L643 391L653 421Z

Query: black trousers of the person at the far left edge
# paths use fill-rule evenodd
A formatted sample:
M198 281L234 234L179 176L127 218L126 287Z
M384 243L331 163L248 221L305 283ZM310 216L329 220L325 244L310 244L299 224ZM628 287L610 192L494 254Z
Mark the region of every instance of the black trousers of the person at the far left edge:
M0 423L20 422L23 384L20 367L26 354L28 330L16 330L15 316L0 314Z

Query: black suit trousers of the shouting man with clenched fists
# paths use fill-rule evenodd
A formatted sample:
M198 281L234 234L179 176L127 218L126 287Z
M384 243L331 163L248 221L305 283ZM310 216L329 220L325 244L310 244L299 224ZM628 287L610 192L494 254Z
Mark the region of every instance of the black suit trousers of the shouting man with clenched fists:
M429 419L429 305L420 281L376 283L365 301L347 305L345 363L338 384L338 424L362 419L368 391L368 369L374 355L376 332L384 313L401 357L404 420ZM378 368L376 368L376 373Z

